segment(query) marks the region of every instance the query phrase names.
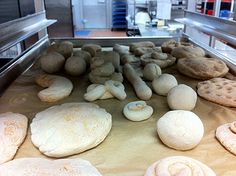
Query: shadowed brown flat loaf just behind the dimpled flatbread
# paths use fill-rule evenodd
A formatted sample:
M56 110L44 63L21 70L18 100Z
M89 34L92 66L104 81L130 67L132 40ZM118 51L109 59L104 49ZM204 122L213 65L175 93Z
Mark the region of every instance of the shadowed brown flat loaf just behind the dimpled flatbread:
M206 57L183 58L177 66L180 73L201 80L223 77L229 71L223 61Z

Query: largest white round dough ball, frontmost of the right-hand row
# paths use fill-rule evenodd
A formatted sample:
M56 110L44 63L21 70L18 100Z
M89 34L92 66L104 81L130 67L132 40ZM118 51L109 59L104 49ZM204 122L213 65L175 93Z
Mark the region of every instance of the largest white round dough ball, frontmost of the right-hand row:
M201 141L204 126L193 112L175 110L167 112L157 121L157 133L170 148L190 150Z

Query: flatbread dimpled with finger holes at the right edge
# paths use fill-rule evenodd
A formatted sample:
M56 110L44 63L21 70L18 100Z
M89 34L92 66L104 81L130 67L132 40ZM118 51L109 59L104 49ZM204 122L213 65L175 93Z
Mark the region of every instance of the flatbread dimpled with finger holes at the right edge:
M202 98L214 103L236 107L236 81L225 78L213 78L199 82L197 93Z

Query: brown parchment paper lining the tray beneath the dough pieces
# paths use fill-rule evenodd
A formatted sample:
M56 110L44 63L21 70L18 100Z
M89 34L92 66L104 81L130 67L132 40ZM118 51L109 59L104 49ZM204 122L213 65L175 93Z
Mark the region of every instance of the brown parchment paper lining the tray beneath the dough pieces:
M75 41L73 39L74 43ZM174 75L179 84L187 84L196 90L198 80L179 74L176 66L164 69L163 72ZM83 95L90 84L87 74L71 77L60 73L59 75L64 75L73 82L74 89L69 97L61 101L45 103L37 97L37 93L42 88L35 84L35 77L40 73L42 71L36 59L33 66L20 75L2 94L0 113L7 111L22 113L29 118L30 124L36 113L48 107L84 101ZM150 83L148 84L150 85ZM112 114L112 130L104 142L94 149L66 158L86 159L97 167L104 176L143 176L147 167L156 160L168 156L183 155L202 161L211 167L217 175L236 175L235 156L225 150L215 138L215 129L219 125L236 120L235 108L227 108L198 97L193 112L203 121L204 137L193 150L177 151L166 147L156 132L157 120L169 111L166 97L153 94L151 100L147 101L147 104L154 108L152 117L143 122L131 122L123 116L122 109L128 102L138 100L138 98L128 82L124 81L124 85L127 93L127 98L124 101L109 99L94 102ZM28 129L27 137L15 156L15 158L22 157L48 158L31 143L30 129Z

